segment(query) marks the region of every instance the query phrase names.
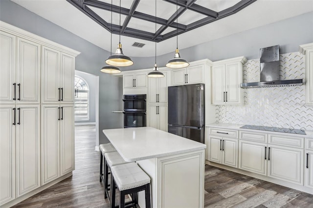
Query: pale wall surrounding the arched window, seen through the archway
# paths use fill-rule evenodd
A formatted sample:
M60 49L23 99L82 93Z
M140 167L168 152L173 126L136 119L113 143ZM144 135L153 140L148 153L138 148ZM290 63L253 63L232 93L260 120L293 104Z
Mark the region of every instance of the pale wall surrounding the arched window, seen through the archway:
M96 76L75 70L75 76L79 76L83 78L88 86L89 86L89 121L75 121L76 123L95 123L96 122L96 87L98 87L96 83Z

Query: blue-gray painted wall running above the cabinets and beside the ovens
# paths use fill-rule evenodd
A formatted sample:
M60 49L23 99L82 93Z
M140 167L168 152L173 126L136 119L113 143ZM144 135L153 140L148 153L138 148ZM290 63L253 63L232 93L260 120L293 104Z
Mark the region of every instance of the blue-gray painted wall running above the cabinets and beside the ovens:
M100 144L106 143L108 140L102 129L122 127L120 116L111 112L120 110L116 109L116 106L121 106L122 79L99 71L104 65L104 58L110 53L9 0L0 0L0 20L81 52L76 58L75 69L100 76L99 136ZM283 54L295 52L299 44L309 42L313 42L313 12L180 49L180 55L189 62L205 58L218 61L238 56L257 59L259 48L262 47L279 44ZM172 53L157 57L159 67L165 66L165 63L173 58L174 49ZM154 57L132 59L134 65L124 67L123 70L153 67Z

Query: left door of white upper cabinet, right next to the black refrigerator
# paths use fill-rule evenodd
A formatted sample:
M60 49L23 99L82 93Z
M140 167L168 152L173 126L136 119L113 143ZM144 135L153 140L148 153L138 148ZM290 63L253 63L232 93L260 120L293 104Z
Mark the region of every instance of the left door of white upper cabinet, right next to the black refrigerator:
M225 103L225 65L212 67L212 104Z

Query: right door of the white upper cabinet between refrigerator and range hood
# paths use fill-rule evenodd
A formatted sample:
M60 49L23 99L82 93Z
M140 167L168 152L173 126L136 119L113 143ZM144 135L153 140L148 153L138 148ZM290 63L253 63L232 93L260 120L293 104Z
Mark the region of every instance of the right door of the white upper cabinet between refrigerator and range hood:
M242 64L241 64L242 65ZM228 104L240 104L242 96L240 81L243 80L243 69L239 63L226 64L225 97Z

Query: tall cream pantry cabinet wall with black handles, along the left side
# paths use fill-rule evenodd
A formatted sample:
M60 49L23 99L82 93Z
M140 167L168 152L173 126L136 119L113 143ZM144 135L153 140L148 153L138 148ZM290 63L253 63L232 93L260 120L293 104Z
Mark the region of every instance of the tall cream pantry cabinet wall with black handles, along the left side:
M57 56L46 56L47 50ZM0 21L1 207L36 194L74 169L73 88L78 54ZM46 112L51 106L55 128L53 115Z

